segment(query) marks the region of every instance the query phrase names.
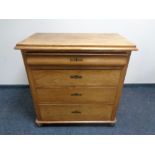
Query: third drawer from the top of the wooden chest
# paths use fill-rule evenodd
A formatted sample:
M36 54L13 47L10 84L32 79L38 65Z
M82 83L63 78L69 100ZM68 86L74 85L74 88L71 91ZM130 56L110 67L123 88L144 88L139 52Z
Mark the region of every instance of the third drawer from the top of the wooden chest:
M116 88L52 88L37 89L39 103L103 103L113 104L116 95Z

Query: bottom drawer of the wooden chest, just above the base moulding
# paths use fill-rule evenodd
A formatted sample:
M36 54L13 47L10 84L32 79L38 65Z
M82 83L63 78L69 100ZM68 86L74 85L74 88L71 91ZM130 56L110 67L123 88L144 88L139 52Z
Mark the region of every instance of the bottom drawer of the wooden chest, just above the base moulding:
M39 105L44 121L103 121L111 120L111 105Z

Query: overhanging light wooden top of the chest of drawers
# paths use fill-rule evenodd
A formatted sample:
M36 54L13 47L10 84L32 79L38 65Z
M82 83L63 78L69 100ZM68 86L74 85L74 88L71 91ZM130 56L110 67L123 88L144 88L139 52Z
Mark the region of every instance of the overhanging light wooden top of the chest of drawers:
M21 50L136 51L136 45L115 33L36 33L16 44Z

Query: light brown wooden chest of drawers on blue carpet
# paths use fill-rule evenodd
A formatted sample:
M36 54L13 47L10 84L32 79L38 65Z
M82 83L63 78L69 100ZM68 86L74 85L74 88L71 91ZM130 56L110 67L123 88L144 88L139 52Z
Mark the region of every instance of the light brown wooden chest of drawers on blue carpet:
M36 123L115 123L136 46L118 34L37 33L19 42Z

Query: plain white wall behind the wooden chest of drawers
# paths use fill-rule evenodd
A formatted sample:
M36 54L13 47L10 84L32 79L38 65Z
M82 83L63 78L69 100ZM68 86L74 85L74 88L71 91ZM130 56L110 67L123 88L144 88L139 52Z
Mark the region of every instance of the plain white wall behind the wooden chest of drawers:
M18 41L35 32L115 32L136 43L126 83L155 83L155 20L0 20L0 84L27 84Z

